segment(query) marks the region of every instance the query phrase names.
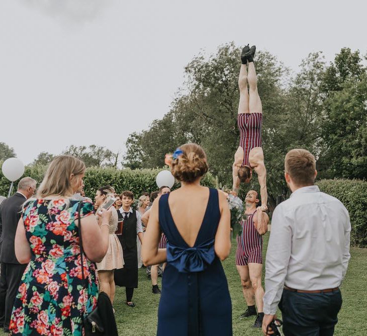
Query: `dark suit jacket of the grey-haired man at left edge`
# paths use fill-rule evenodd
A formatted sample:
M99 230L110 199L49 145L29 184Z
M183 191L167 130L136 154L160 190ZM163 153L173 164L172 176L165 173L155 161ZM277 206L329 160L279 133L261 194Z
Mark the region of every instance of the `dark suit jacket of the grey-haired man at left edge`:
M26 201L20 193L15 193L0 205L0 226L2 235L0 238L0 262L7 264L19 264L15 256L14 241L17 226L22 214L22 205Z

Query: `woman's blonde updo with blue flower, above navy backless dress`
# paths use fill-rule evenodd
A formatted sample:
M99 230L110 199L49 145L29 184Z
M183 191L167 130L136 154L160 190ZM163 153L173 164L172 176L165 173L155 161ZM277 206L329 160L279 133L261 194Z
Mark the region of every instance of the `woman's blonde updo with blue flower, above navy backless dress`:
M182 153L177 154L177 150ZM178 181L191 183L208 172L207 154L202 146L186 143L177 150L173 154L171 173Z

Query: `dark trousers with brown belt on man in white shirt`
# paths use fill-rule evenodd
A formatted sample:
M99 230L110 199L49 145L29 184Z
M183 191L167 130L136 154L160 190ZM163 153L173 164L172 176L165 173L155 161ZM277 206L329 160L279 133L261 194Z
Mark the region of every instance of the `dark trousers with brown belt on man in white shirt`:
M331 336L341 308L340 290L297 293L283 290L279 309L285 336Z

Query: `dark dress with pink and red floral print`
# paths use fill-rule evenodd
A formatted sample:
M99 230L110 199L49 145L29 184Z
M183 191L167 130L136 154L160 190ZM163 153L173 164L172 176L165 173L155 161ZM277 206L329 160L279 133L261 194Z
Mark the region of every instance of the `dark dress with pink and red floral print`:
M38 199L24 205L32 256L14 303L11 334L83 334L82 314L97 306L98 278L95 263L83 256L85 289L76 226L79 202L80 218L93 214L93 205L85 201Z

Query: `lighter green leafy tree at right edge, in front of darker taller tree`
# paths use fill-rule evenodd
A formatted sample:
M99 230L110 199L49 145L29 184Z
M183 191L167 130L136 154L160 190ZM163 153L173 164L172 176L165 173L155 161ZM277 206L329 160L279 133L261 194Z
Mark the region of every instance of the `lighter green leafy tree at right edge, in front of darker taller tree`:
M331 178L367 178L367 73L348 80L328 100L323 139L327 144L326 175Z

